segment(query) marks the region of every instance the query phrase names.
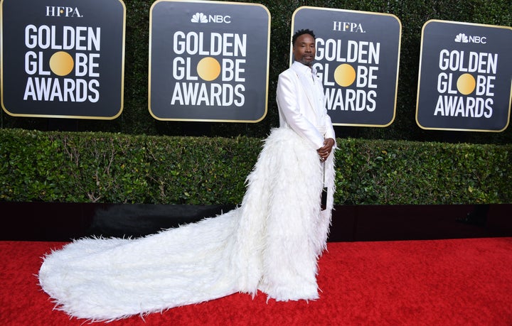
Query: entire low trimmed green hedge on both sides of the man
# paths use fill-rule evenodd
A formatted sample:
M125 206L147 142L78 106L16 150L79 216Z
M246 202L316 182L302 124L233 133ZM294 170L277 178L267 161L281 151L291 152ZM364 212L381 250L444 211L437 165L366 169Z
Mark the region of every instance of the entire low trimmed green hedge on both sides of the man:
M512 145L338 138L336 205L512 202ZM262 138L0 131L0 200L239 204Z

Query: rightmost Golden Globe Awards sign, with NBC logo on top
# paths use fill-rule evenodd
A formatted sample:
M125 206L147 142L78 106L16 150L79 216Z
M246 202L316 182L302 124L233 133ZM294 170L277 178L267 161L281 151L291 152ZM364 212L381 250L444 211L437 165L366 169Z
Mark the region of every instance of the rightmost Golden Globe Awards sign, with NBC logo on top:
M512 28L452 21L423 26L416 121L422 129L506 129Z

